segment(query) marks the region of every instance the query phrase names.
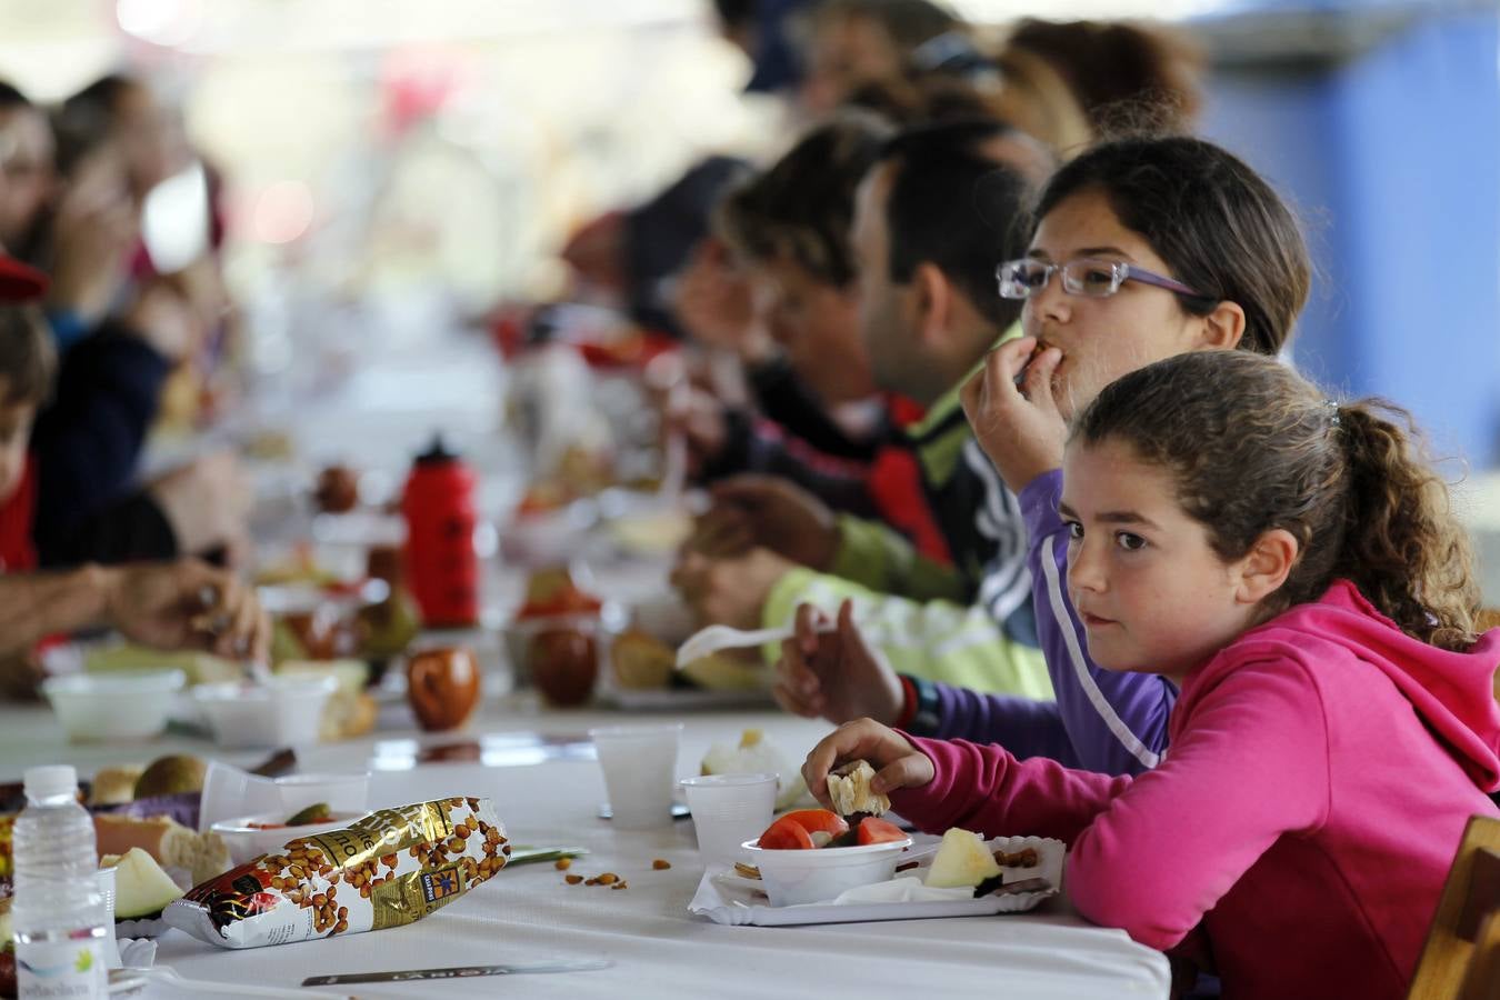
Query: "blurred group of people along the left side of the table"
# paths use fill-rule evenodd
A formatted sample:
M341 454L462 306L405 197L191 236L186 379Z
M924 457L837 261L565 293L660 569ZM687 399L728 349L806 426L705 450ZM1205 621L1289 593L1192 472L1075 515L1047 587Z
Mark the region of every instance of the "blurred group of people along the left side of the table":
M186 198L172 193L178 178L189 180ZM254 597L207 565L232 565L246 547L249 490L236 457L141 475L153 429L200 426L232 396L216 192L214 172L146 81L110 75L52 108L0 82L8 687L30 688L46 636L144 621L114 612L156 585L154 610L180 610L183 625L158 642L224 639L220 648L244 652L262 642ZM184 627L213 609L222 634Z

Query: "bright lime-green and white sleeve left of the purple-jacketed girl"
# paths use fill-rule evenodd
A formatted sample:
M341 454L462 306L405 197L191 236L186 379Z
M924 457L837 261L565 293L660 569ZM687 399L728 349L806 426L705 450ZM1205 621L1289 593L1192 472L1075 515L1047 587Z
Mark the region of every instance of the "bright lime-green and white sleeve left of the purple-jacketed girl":
M844 598L854 601L854 616L866 639L897 673L984 693L1053 699L1041 651L1005 637L984 607L876 594L836 576L796 568L771 589L764 624L771 628L792 621L802 603L832 615ZM770 663L780 652L777 645L765 646Z

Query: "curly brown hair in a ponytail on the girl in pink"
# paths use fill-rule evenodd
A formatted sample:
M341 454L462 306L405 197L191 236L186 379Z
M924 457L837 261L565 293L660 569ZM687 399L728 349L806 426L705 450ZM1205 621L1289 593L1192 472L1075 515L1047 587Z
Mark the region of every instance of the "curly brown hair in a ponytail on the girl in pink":
M1298 561L1272 610L1314 601L1344 577L1408 636L1473 645L1468 538L1401 408L1334 405L1272 358L1198 351L1106 387L1072 436L1124 441L1168 469L1182 508L1226 562L1268 531L1290 532Z

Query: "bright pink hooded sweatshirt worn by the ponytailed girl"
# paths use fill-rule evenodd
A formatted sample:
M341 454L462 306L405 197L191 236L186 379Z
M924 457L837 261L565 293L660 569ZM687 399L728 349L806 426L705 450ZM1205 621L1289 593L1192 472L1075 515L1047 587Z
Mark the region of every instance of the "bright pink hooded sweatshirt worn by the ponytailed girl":
M1184 681L1137 778L914 739L891 796L940 832L1056 837L1078 912L1170 949L1202 924L1226 997L1401 997L1470 816L1497 816L1500 630L1406 636L1347 582Z

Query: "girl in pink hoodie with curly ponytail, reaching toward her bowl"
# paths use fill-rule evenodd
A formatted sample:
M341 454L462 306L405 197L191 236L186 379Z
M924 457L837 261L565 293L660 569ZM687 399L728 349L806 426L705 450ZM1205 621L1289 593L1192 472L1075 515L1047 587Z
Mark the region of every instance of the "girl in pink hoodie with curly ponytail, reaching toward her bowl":
M1182 688L1154 771L861 720L808 787L864 757L927 831L1064 840L1083 916L1216 969L1226 997L1401 997L1464 823L1497 814L1500 630L1474 634L1466 535L1380 409L1209 351L1076 421L1060 511L1089 652Z

